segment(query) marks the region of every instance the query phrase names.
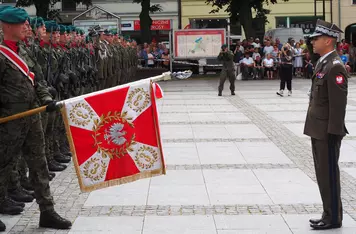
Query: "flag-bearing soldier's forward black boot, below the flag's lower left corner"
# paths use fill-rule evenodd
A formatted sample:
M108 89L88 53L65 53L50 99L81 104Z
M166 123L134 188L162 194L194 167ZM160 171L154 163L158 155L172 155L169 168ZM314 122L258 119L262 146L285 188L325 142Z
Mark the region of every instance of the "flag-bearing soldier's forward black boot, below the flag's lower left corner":
M72 223L59 216L54 210L42 211L40 215L40 227L54 229L70 229Z

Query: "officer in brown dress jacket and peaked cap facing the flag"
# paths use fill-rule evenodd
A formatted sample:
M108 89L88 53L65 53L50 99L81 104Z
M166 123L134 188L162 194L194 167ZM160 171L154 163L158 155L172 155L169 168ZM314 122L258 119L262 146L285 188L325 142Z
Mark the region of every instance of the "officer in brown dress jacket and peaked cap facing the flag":
M311 137L314 166L319 186L323 214L310 219L313 229L342 226L339 155L345 127L347 103L346 69L335 51L342 31L329 22L318 20L311 35L314 52L320 54L314 75L304 134Z

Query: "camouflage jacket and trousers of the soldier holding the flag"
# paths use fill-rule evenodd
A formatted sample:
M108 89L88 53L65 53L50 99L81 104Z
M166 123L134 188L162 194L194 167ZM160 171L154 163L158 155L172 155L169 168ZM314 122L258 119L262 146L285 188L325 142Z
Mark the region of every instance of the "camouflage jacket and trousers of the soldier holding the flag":
M21 54L20 54L21 56ZM38 107L52 101L46 87L35 86L3 55L0 55L0 116L6 117ZM7 193L9 174L17 163L21 150L26 154L30 178L41 211L53 210L49 189L48 168L44 151L44 135L39 114L0 125L0 203Z

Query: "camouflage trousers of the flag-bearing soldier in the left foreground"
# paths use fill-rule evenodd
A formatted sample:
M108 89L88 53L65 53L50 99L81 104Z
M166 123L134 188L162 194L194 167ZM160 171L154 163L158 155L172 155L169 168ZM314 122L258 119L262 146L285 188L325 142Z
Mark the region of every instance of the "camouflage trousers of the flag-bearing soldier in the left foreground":
M0 124L0 203L5 199L11 171L24 153L40 210L53 209L39 115Z

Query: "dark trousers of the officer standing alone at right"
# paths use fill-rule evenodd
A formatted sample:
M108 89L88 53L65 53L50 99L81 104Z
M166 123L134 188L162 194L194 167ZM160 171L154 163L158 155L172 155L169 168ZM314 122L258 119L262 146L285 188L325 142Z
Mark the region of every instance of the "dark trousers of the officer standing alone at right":
M316 178L323 202L324 222L341 224L342 203L340 189L339 155L342 137L317 140L312 138Z

